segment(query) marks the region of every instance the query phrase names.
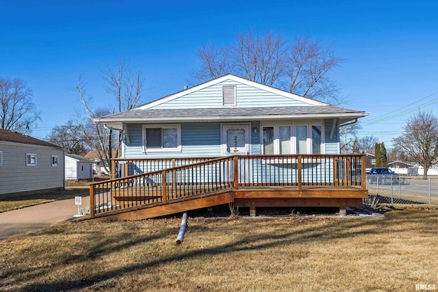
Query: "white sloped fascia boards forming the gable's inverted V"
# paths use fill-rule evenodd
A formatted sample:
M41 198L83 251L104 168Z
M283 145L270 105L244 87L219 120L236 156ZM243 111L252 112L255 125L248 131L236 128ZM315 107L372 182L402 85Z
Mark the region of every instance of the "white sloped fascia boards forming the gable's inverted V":
M205 83L202 83L200 85L196 85L192 88L188 88L187 90L182 90L180 92L177 92L175 94L171 94L169 96L166 96L164 98L157 99L156 101L152 101L151 103L146 103L146 105L140 105L139 107L136 107L136 109L150 109L151 107L155 107L156 105L161 105L162 103L167 103L168 101L172 101L175 98L179 98L181 96L184 96L186 94L191 94L192 92L196 92L198 90L203 90L204 88L208 88L211 85L221 83L226 80L233 80L236 82L240 82L242 84L253 86L254 88L258 88L260 90L266 90L267 92L272 92L274 94L278 94L280 96L285 96L287 98L294 99L296 101L301 101L302 103L307 103L308 105L329 105L329 103L322 103L321 101L315 101L314 99L299 96L293 93L285 92L284 90L279 90L277 88L272 88L268 85L264 85L261 83L257 83L254 81L250 81L248 79L244 79L242 77L237 77L235 75L224 75L222 77L219 77L217 79L213 79L211 81L207 81Z

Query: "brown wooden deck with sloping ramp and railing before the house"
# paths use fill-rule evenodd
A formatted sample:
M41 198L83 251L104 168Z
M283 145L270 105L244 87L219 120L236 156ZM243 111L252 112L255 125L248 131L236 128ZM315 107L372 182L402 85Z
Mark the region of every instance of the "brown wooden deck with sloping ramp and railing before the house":
M298 167L292 165L296 172L287 170L288 180L276 173L256 181L254 170L253 178L243 178L242 172L250 171L242 165L251 165L254 169L256 164L253 161L247 163L248 157L244 157L244 163L239 159L222 157L94 183L90 185L90 198L95 206L91 215L111 220L141 220L228 203L249 208L250 214L255 215L258 207L358 207L363 198L368 197L362 155L334 158L324 155L323 162L321 156L299 155L294 157ZM279 161L279 157L275 159ZM286 166L291 168L292 161L291 157L284 159L287 163L280 167L283 172ZM344 159L342 165L359 164L360 171L351 168L339 172L337 166L341 159ZM306 165L307 174L303 174L299 161L318 161L318 164ZM279 169L278 165L274 166L270 166L270 170ZM266 173L266 170L262 171ZM271 177L276 181L269 181Z

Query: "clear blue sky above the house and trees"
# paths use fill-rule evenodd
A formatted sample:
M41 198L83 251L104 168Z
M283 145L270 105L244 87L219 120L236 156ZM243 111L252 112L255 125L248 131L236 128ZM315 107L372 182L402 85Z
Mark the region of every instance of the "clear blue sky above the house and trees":
M105 106L101 70L125 59L152 101L183 89L203 45L250 30L333 47L342 106L371 113L359 136L390 146L418 109L438 114L438 1L0 0L0 76L27 81L42 119L31 135L44 138L81 111L80 73Z

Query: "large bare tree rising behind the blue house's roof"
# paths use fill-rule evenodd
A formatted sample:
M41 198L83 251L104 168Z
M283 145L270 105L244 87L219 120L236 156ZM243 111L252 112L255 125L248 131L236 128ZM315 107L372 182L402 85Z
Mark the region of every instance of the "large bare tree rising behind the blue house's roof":
M329 47L309 38L287 42L274 33L235 34L227 46L209 44L197 53L201 67L193 74L207 81L232 73L308 98L339 103L339 88L330 72L343 61Z

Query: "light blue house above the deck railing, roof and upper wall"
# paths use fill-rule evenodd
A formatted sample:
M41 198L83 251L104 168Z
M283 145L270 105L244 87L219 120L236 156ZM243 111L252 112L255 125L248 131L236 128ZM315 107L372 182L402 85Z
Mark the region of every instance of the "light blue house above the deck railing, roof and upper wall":
M122 157L339 154L339 126L368 116L225 75L119 114Z

